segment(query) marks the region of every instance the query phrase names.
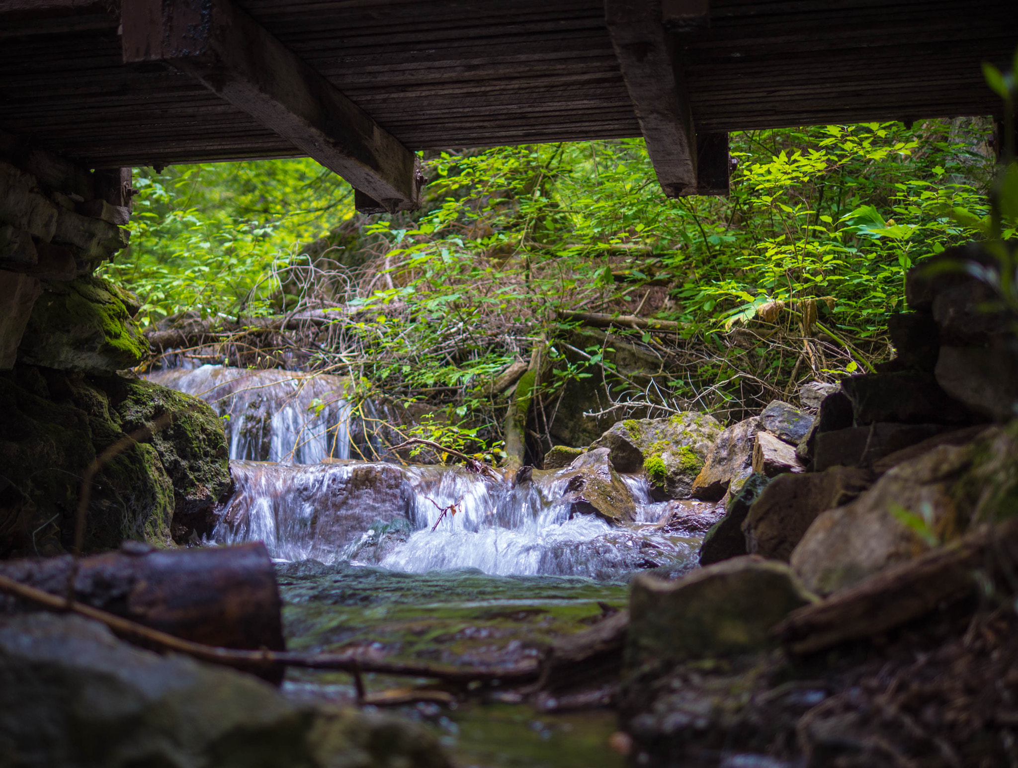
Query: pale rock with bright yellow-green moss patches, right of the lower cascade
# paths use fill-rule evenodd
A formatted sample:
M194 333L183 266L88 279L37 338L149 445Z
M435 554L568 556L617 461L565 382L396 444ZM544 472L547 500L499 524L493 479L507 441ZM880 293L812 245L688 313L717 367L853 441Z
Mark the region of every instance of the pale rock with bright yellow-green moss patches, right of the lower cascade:
M688 410L668 419L619 422L590 447L608 448L619 472L645 470L656 495L685 498L719 434L717 420Z

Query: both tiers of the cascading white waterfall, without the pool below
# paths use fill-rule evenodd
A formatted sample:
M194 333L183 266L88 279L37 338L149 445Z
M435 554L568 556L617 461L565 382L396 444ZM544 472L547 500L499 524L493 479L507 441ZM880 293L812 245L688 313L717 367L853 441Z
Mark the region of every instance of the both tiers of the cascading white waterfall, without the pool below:
M643 476L620 476L635 515L609 522L577 510L568 468L517 484L457 467L344 460L350 409L338 377L204 366L151 378L229 416L235 488L215 543L261 540L281 560L411 572L603 579L693 560L696 532L659 525L682 502L655 503Z

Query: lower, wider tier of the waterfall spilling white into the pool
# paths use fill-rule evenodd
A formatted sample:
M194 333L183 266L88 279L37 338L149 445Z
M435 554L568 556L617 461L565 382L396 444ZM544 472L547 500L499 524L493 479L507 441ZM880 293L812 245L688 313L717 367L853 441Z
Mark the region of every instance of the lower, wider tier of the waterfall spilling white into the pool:
M668 504L651 503L638 477L627 480L646 499L637 505L637 522L613 525L595 514L570 516L565 471L534 472L532 481L514 486L458 467L234 461L231 468L236 490L213 538L261 539L273 557L286 560L604 579L690 563L698 545L695 536L657 528Z

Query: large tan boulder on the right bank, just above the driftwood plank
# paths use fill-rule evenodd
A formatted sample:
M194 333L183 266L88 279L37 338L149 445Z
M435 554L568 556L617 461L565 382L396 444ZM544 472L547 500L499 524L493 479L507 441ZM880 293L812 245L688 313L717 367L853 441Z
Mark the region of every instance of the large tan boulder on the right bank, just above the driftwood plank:
M972 456L971 445L941 445L889 470L852 503L816 517L792 567L826 595L957 538L968 520L951 489Z

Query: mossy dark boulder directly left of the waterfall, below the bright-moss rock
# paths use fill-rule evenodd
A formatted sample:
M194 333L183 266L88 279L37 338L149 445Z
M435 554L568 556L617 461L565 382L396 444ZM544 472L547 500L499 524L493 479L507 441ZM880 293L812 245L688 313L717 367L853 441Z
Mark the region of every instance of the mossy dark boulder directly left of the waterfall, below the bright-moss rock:
M117 380L114 405L127 433L148 428L173 487L173 534L182 543L214 524L212 509L231 486L223 423L204 400L140 379Z

